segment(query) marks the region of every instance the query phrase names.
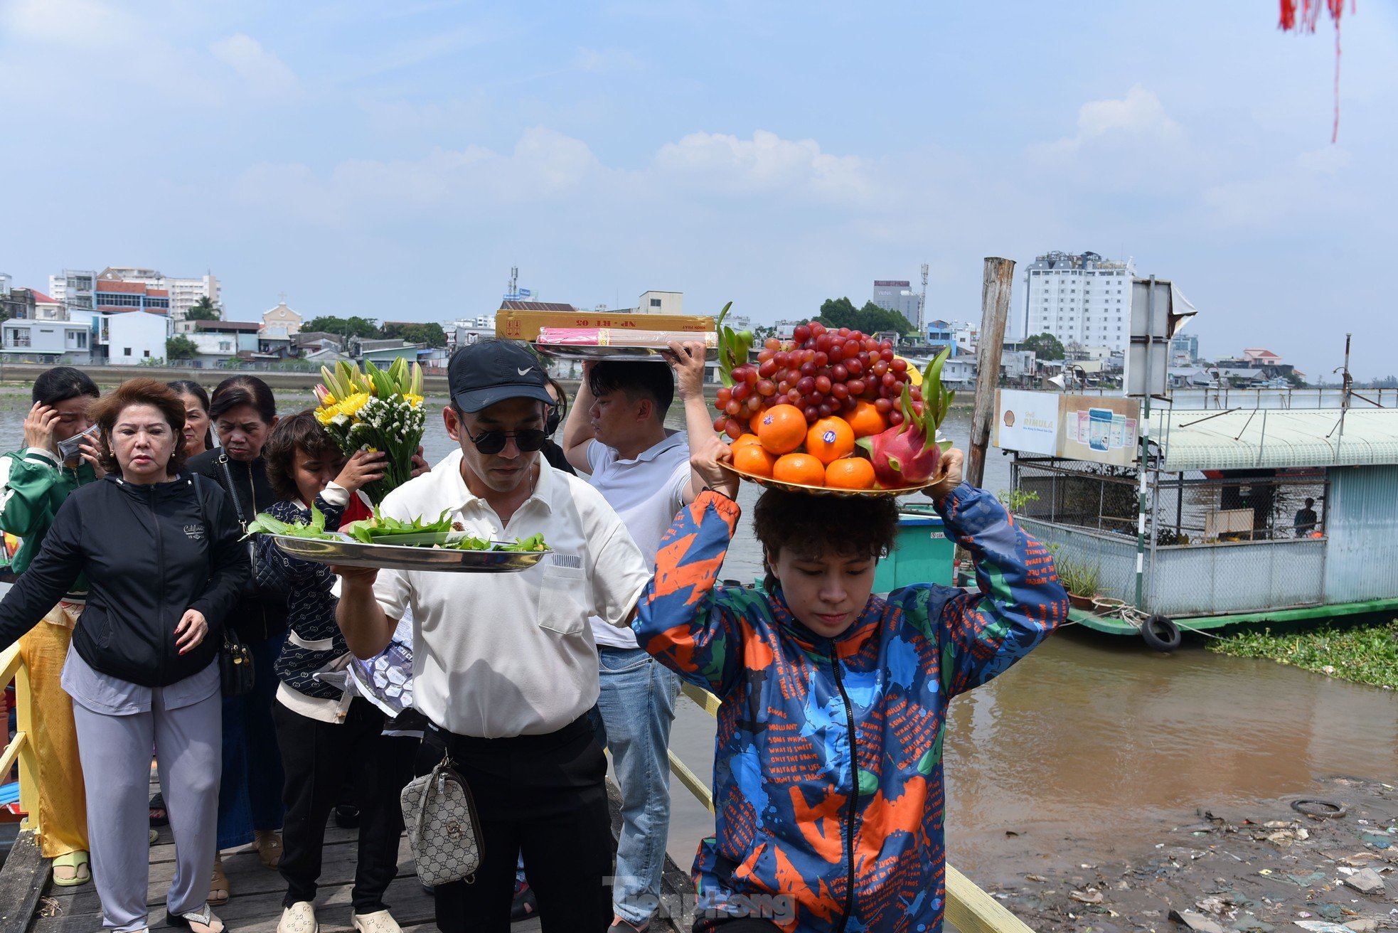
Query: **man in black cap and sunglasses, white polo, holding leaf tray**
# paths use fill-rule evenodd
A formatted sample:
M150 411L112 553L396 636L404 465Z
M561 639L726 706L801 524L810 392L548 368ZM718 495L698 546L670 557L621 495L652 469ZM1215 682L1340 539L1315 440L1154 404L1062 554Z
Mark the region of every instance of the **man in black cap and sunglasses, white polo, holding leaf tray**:
M438 885L443 933L509 929L523 852L545 932L604 930L611 919L607 764L587 711L597 702L589 617L624 622L650 567L617 512L582 480L542 462L545 375L523 346L488 340L449 364L447 435L461 446L389 494L382 512L436 518L478 537L542 533L552 548L519 574L337 568L337 618L359 657L414 620L414 706L424 741L466 778L481 818L471 884Z

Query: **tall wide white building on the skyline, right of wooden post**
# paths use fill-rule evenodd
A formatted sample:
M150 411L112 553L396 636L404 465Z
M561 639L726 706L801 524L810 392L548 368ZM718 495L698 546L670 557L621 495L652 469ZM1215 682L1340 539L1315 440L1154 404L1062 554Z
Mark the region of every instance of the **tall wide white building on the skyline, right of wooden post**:
M1131 340L1130 259L1097 253L1036 256L1025 270L1021 336L1053 334L1064 347L1125 350Z

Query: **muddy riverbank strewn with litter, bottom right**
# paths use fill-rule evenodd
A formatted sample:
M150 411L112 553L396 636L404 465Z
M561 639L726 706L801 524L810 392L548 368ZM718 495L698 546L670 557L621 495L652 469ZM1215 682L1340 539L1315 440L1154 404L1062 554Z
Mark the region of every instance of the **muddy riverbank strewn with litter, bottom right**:
M1124 859L1022 878L987 890L1040 933L1398 929L1398 788L1329 778L1304 797L1201 806Z

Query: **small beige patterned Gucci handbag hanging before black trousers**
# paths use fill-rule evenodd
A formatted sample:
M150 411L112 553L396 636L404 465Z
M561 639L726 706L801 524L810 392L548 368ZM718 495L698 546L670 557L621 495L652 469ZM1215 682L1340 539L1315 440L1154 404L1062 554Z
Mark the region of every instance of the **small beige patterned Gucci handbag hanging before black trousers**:
M452 768L450 757L403 789L403 825L422 884L475 881L481 822L471 789Z

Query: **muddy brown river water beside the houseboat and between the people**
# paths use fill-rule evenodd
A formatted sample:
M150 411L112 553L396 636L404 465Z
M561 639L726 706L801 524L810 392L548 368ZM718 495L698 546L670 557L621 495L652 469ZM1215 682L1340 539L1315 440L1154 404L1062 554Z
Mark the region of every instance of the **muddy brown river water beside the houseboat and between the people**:
M309 399L287 394L281 407L294 411ZM24 394L0 397L7 449L21 442L27 408ZM452 442L440 421L429 425L435 462ZM963 446L969 413L953 411L946 431ZM998 450L987 457L984 485L1009 485L1009 460ZM740 502L754 499L745 487ZM756 543L741 530L724 576L751 581L759 568ZM713 719L685 698L671 747L710 779ZM1302 795L1329 775L1398 778L1398 692L1225 657L1197 642L1163 656L1135 638L1065 629L953 701L948 853L990 884L1043 857L1138 850L1162 825L1191 822L1195 807ZM713 821L678 781L671 788L670 852L688 869Z

